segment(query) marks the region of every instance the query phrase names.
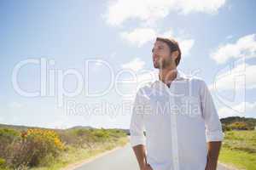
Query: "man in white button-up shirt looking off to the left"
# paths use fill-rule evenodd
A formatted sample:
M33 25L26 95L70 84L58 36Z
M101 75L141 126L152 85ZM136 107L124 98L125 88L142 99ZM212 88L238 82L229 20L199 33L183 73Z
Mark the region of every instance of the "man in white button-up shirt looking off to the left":
M140 169L216 170L224 133L207 84L177 70L175 40L157 37L152 53L158 78L137 91L130 125Z

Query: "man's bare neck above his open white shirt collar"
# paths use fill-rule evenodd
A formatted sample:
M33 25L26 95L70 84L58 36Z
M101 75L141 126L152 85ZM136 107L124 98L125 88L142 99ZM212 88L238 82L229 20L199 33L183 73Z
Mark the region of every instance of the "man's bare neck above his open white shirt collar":
M170 86L171 82L177 77L177 68L160 69L159 79L166 85Z

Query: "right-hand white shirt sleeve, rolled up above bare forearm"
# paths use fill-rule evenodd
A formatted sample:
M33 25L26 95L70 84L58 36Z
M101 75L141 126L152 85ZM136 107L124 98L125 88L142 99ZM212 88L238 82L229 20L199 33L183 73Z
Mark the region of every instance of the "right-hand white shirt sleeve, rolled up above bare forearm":
M218 112L213 103L212 95L204 81L201 81L201 111L206 126L207 142L222 141L224 133L219 121Z

